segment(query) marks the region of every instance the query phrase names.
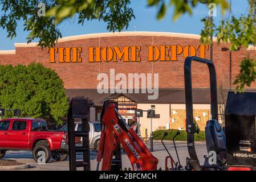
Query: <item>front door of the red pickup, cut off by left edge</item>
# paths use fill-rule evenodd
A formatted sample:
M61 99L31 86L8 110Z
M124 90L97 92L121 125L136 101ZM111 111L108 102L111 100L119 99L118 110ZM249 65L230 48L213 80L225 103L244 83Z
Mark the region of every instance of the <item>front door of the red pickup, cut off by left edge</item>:
M0 121L0 148L9 148L10 121Z

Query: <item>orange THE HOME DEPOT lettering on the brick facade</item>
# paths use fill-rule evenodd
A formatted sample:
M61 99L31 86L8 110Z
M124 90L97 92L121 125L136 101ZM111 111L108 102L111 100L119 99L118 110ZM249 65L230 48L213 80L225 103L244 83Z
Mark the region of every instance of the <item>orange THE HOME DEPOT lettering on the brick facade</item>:
M209 50L208 45L198 46L148 46L147 61L177 61L178 55L196 56L197 52L202 58L205 58L206 51ZM82 47L59 47L47 48L50 55L50 63L81 63ZM109 62L109 61L141 61L141 46L125 46L119 47L88 47L88 62Z

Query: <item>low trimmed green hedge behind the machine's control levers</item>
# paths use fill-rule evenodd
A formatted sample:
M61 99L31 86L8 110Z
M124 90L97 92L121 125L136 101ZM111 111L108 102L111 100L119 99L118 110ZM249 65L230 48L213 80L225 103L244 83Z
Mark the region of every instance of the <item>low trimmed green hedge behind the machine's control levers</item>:
M156 130L153 132L153 139L161 140L164 136L165 131L168 135L164 138L164 140L172 140L174 135L176 135L177 131L180 131L180 135L178 135L175 140L177 141L186 141L186 131L181 130ZM199 134L194 134L195 141L204 141L205 140L205 132L200 131Z

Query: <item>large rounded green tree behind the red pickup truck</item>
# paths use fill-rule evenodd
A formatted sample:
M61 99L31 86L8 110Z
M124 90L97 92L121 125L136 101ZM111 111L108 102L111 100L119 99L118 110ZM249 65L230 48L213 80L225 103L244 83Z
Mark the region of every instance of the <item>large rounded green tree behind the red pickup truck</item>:
M68 110L63 81L42 64L0 65L0 106L21 109L21 117L44 118L62 123ZM6 112L5 117L12 117Z

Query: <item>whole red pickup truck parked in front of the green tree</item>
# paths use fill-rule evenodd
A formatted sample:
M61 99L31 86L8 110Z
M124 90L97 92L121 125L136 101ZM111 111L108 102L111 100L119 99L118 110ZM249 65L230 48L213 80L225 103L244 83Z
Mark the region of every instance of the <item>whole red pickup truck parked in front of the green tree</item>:
M42 151L47 163L68 158L67 133L50 131L46 121L34 118L10 118L0 121L0 159L7 150L30 150L37 162ZM40 155L39 155L40 154Z

